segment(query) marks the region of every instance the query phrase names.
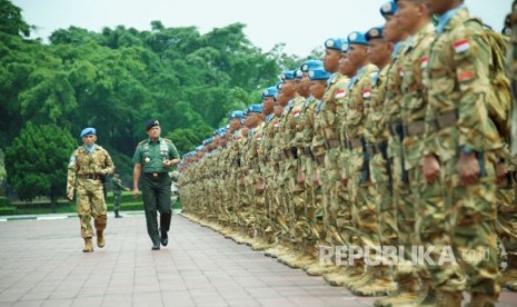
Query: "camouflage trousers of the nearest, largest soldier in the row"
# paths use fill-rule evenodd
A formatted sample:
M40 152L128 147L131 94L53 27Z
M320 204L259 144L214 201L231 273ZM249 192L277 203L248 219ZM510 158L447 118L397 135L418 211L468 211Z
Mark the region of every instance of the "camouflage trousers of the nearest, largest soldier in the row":
M496 184L495 157L484 154L480 158L481 177L478 182L464 187L457 175L458 158L443 165L441 186L445 189L445 210L448 214L446 230L453 250L465 275L470 293L498 296L496 283L498 259L496 245ZM437 280L446 289L464 290L461 277L444 276Z

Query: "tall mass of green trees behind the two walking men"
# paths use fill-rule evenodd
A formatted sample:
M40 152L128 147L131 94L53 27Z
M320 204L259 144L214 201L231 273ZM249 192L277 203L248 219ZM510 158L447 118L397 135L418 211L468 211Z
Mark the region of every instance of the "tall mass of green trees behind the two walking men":
M8 0L0 0L0 147L10 146L28 122L30 129L54 125L73 138L93 126L127 185L132 184L127 180L131 157L147 137L148 119L158 118L162 136L185 154L225 126L230 111L258 103L281 70L301 62L281 46L262 53L245 36L242 23L205 34L160 21L152 21L150 31L70 27L54 31L50 44L43 44L20 36L29 34L30 26ZM54 161L60 175L69 155ZM24 199L50 188L31 176L10 178L17 180L24 181L17 187ZM38 188L28 189L31 185Z

